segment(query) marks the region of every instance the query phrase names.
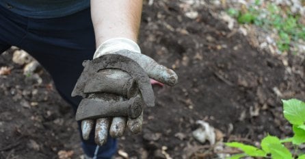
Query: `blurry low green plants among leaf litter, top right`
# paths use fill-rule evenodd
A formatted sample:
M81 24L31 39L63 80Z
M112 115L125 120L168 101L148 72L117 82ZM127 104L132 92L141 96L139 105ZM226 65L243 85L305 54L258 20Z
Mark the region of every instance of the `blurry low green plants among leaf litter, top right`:
M293 15L289 10L267 2L263 7L260 0L254 1L246 10L227 10L241 24L254 24L268 30L276 30L276 45L280 51L289 51L292 42L305 40L305 27L300 23L300 15Z

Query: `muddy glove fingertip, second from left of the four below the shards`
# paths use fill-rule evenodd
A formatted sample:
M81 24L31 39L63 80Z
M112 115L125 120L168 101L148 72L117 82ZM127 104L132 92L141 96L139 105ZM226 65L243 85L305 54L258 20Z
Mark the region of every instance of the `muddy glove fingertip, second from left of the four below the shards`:
M109 123L109 118L96 120L94 140L97 145L104 145L107 142Z

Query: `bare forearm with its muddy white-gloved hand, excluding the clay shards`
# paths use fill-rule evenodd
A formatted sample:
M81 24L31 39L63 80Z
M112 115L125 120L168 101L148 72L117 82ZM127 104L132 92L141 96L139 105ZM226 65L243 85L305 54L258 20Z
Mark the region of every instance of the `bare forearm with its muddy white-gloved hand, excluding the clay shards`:
M123 56L139 64L139 67L141 67L149 77L170 86L176 84L176 73L167 69L165 66L157 64L155 60L152 60L148 56L141 54L140 47L136 43L140 26L142 1L92 0L91 10L92 22L96 36L96 52L94 53L94 60L101 56L105 56L106 54ZM122 73L126 72L130 73L118 69L103 69L103 71L105 71L103 73L108 73L108 76L113 75L113 77L119 77ZM150 85L149 82L148 85ZM150 95L153 99L153 93L150 93ZM143 93L140 93L139 96L142 98L145 97ZM114 97L114 99L115 98L116 97ZM152 105L153 104L150 104L150 106ZM112 137L121 136L124 133L126 126L129 127L129 130L133 133L140 132L142 129L142 119L142 114L136 119L129 118L128 120L125 117L114 117L112 121L110 117L85 119L82 121L83 138L89 138L94 120L96 121L97 127L95 130L96 143L98 143L98 145L103 145L106 142L108 130ZM109 125L111 126L109 127Z

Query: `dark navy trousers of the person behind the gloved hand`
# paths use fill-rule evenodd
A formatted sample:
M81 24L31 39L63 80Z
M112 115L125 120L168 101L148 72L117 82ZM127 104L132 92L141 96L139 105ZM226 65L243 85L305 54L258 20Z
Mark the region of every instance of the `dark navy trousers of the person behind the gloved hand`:
M80 98L71 97L71 92L83 60L92 59L95 51L90 9L60 18L30 19L0 6L0 53L12 45L36 58L53 77L59 94L77 110ZM110 158L117 143L108 138L105 146L97 147L92 133L82 145L87 156Z

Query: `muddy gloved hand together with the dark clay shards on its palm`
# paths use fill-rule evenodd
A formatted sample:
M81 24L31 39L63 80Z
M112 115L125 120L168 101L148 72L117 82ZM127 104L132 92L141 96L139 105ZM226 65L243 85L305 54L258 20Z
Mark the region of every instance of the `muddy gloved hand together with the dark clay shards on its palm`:
M83 100L76 119L81 122L87 140L95 125L95 142L106 143L108 132L114 137L128 127L134 134L141 132L143 106L154 106L150 79L174 86L177 75L171 69L140 53L138 45L127 38L104 42L94 53L94 60L83 62L72 96Z

